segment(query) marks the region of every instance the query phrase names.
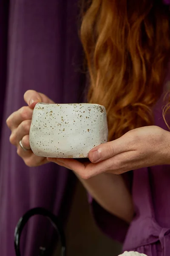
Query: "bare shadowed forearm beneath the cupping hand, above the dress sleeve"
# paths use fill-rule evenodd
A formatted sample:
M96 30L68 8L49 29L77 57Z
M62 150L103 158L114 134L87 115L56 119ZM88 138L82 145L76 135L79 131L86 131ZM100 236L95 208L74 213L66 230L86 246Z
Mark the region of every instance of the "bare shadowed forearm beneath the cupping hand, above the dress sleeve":
M132 220L132 197L121 175L102 173L88 180L78 178L104 209L128 223Z

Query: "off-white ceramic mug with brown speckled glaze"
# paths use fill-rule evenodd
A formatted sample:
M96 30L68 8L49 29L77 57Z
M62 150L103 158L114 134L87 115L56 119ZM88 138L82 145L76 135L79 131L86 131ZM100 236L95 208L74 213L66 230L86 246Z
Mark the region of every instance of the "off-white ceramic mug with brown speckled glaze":
M86 158L108 140L103 106L38 103L33 111L30 145L42 157Z

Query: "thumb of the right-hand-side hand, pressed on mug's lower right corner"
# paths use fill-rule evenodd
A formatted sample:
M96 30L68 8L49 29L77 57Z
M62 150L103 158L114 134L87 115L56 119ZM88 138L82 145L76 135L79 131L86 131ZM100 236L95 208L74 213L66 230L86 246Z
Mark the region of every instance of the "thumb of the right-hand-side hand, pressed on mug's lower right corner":
M98 163L110 157L130 150L130 141L127 136L123 135L117 140L101 144L93 148L88 153L88 158L92 163Z

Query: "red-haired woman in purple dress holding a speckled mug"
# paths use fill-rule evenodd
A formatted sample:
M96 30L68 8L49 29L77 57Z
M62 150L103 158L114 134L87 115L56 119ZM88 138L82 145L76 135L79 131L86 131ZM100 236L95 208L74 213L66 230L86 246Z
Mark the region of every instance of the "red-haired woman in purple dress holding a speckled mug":
M162 108L170 81L169 6L161 0L93 0L86 7L81 40L88 101L105 105L109 142L92 149L88 163L35 156L28 140L32 109L52 102L35 91L24 95L28 107L7 119L10 141L28 166L51 161L73 170L93 198L97 223L124 241L124 250L168 256L170 133L168 106L166 121Z

